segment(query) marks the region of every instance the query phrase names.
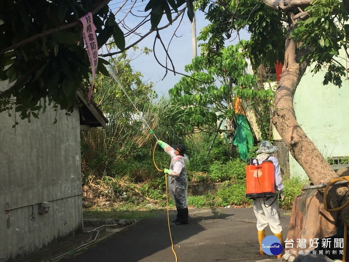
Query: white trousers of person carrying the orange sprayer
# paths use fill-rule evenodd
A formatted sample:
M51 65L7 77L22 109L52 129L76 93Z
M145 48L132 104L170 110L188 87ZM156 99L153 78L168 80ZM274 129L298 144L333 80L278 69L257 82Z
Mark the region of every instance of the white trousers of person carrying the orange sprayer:
M257 230L261 231L269 224L270 230L276 234L282 232L280 224L280 207L275 197L266 200L263 197L253 200L253 211L257 218ZM271 204L271 205L270 205Z

